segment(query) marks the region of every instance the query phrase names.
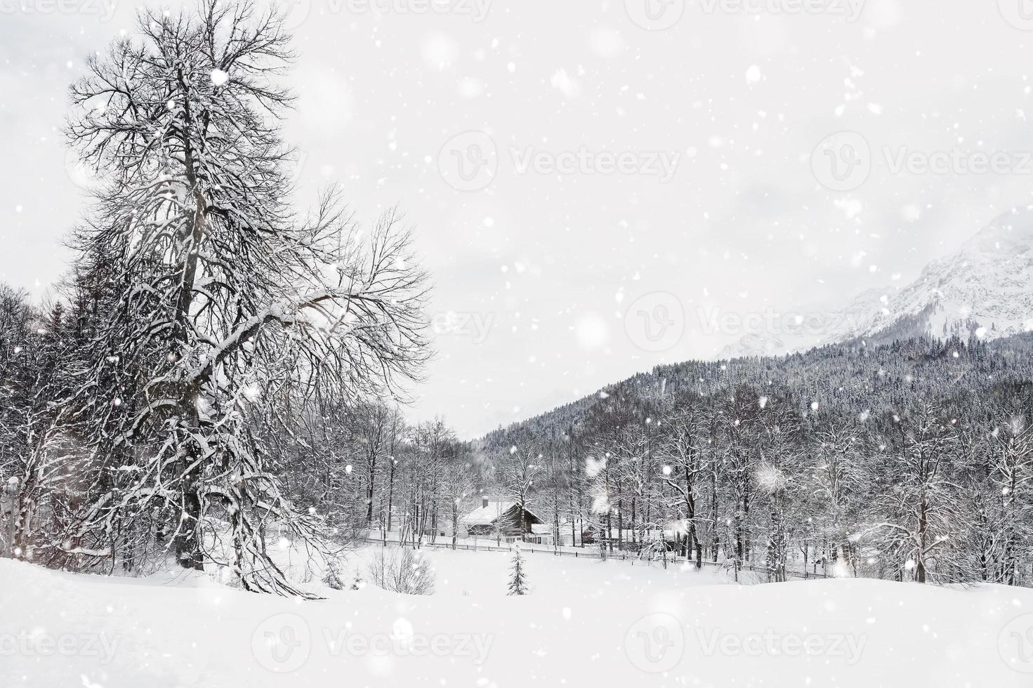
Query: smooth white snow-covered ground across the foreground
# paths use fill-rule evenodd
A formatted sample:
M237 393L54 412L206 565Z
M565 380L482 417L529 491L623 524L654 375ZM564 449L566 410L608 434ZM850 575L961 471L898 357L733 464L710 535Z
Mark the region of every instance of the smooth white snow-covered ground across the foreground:
M376 548L353 555L343 577ZM0 560L0 686L1033 685L1033 591L877 581L731 585L719 571L429 551L437 592L296 601L211 577ZM1010 663L1010 665L1009 665Z

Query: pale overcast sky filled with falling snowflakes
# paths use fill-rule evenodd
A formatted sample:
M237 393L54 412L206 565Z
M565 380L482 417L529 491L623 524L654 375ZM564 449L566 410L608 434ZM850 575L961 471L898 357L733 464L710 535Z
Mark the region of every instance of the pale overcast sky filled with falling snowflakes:
M457 2L299 0L285 137L300 204L340 182L415 227L455 317L412 415L465 437L742 334L700 313L909 281L1033 202L1030 0ZM136 6L0 0L0 279L37 295L84 204L67 86ZM812 156L840 131L870 151L846 190ZM905 149L1014 163L895 174Z

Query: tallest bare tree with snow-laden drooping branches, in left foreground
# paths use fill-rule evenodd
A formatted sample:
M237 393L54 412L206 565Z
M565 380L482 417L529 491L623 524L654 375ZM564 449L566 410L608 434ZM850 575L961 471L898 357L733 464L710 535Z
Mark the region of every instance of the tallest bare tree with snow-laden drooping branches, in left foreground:
M145 10L137 36L89 59L68 135L102 181L79 269L105 276L113 305L76 404L104 395L117 409L90 438L105 489L82 529L107 540L165 513L184 567L225 561L248 590L293 594L259 532L311 539L319 521L281 492L256 428L282 419L287 396L303 408L392 389L426 342L399 217L361 231L333 192L305 216L289 205L291 96L276 83L288 40L249 0ZM100 384L113 368L142 376L131 398Z

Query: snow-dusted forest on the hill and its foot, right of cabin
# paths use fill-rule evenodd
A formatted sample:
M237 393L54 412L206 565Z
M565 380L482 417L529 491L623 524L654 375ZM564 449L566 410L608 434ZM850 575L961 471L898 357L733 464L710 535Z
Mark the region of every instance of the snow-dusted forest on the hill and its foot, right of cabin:
M1031 343L663 366L486 445L541 454L530 500L554 524L609 534L607 549L675 539L697 561L759 563L773 580L820 564L1028 585Z

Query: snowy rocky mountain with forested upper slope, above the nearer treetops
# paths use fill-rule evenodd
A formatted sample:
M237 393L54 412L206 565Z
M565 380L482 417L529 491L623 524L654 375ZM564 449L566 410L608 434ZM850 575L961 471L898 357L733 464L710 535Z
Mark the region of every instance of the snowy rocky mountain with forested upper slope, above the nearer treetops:
M902 405L916 395L945 399L944 390L960 379L975 395L996 394L985 386L991 379L1028 384L1033 376L1033 211L1002 215L953 255L930 262L903 288L868 289L839 312L810 312L794 331L747 335L716 361L659 366L600 393L655 400L680 389L707 395L775 380L823 404L856 406L859 412L873 405ZM953 345L930 342L957 337L964 348L971 335L993 341L988 345L992 363L957 368L959 362L946 353ZM911 339L925 341L907 343ZM902 344L884 346L895 341ZM800 355L795 361L769 357L787 353ZM961 355L964 362L968 354ZM741 361L724 364L733 358ZM599 398L584 397L510 428L569 427ZM507 430L489 433L487 443L503 441L499 438Z

